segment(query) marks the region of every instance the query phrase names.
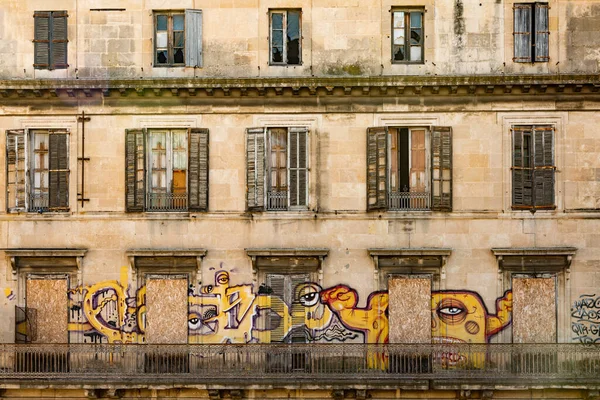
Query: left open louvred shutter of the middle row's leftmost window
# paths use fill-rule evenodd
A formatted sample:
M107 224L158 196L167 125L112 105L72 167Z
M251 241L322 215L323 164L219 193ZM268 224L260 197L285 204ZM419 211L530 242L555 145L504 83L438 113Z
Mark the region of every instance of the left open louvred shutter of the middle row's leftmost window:
M25 210L25 131L6 131L6 207L8 211Z

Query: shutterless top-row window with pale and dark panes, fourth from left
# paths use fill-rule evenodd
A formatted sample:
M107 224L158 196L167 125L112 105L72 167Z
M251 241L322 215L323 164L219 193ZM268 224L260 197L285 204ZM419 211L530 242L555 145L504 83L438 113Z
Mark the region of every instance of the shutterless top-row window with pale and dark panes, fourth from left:
M392 12L392 62L423 62L423 10Z

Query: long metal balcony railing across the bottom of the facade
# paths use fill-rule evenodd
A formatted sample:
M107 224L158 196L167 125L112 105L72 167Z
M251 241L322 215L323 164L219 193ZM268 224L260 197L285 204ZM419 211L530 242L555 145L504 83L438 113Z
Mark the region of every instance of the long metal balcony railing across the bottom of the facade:
M0 345L0 381L600 384L600 345Z

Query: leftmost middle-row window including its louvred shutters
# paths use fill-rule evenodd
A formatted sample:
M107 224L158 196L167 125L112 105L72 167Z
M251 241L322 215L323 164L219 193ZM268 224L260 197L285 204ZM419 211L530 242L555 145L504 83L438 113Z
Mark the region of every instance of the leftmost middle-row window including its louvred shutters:
M7 209L69 209L69 131L6 131Z

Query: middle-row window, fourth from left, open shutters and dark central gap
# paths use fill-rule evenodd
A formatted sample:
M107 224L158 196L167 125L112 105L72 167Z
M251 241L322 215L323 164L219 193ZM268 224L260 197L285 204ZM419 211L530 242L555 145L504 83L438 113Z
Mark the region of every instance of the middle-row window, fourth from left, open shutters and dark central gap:
M452 130L367 131L368 210L452 210Z

